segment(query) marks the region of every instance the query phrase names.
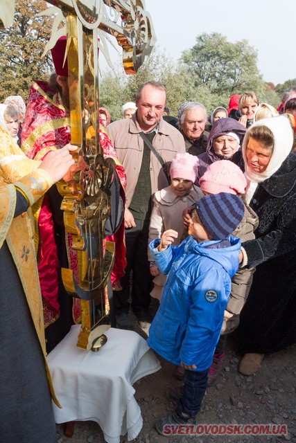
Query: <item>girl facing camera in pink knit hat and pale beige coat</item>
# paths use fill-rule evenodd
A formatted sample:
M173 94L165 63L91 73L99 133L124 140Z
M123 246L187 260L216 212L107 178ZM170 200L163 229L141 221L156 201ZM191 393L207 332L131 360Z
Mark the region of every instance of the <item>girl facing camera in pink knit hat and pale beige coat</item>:
M153 210L150 218L149 241L162 237L165 230L173 229L179 233L174 244L180 244L184 233L182 213L196 200L202 197L202 191L193 185L198 168L198 158L191 154L176 154L170 168L171 185L155 192L153 198ZM155 277L154 288L151 296L160 300L166 275L159 273L150 248L148 248L148 260L150 260L150 273Z

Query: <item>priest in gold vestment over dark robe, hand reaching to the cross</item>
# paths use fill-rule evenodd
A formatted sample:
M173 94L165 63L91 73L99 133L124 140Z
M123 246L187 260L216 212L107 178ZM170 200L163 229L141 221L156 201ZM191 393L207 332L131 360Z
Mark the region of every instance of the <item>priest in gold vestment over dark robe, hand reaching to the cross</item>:
M56 443L31 205L74 161L71 145L28 159L0 125L1 443Z

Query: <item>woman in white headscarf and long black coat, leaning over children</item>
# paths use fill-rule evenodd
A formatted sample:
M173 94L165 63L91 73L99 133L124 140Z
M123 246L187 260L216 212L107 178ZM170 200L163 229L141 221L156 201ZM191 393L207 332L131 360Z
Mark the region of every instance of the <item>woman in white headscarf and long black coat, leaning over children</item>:
M264 354L296 338L296 154L286 116L265 118L247 130L243 159L245 200L259 217L256 239L243 243L242 266L256 266L238 327L245 354L239 371L254 374Z

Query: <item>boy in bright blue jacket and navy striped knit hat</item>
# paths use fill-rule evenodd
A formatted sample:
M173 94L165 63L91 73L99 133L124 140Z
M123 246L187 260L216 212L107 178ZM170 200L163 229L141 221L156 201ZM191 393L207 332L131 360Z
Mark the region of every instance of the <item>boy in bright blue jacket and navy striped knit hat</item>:
M150 243L159 271L168 278L147 343L164 359L181 364L185 381L169 394L177 401L173 414L155 424L162 435L170 435L171 425L194 422L200 410L231 278L238 270L241 240L230 233L243 215L237 195L207 195L196 202L189 237L180 246L171 246L177 238L172 229Z

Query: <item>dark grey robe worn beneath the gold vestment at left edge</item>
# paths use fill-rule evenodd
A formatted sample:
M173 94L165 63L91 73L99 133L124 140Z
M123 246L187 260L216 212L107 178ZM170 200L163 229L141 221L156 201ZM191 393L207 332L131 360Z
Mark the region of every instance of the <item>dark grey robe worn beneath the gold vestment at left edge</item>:
M27 208L28 201L17 192L15 217ZM0 312L1 443L55 443L58 439L42 347L6 242L0 248Z

